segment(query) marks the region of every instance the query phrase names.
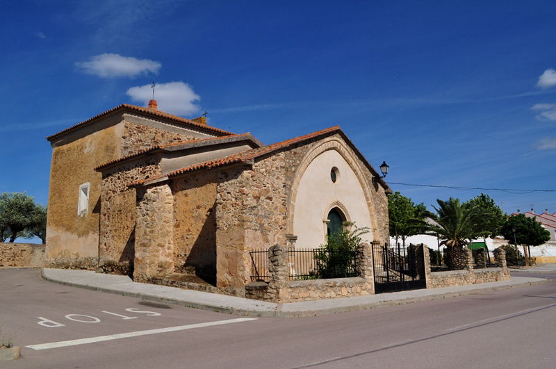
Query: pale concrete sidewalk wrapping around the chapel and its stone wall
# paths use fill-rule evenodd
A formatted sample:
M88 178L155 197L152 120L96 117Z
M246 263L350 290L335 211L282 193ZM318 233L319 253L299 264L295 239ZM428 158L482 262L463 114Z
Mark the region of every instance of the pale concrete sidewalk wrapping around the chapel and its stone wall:
M474 284L446 288L407 290L379 295L342 297L337 299L275 304L250 300L243 297L218 295L195 290L142 284L131 281L129 277L113 274L99 274L88 270L42 269L42 277L47 281L115 293L117 295L138 297L142 300L165 302L195 309L218 311L236 315L251 316L314 316L345 311L373 309L378 306L409 304L411 302L436 300L445 297L474 293L486 293L518 286L532 286L548 283L547 279L512 277L508 281Z

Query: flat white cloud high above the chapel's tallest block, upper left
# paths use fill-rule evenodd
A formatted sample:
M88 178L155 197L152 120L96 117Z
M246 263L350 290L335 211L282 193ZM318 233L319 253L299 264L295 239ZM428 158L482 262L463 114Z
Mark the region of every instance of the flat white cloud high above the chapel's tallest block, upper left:
M158 73L162 64L154 60L138 59L118 54L100 54L92 56L89 61L77 62L76 67L87 74L110 77L134 77L138 74Z

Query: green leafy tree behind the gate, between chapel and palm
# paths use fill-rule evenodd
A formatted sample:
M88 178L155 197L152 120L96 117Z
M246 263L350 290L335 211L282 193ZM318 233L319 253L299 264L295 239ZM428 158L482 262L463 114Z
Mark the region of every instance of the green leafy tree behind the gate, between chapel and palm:
M423 220L427 208L423 203L414 205L409 197L405 197L396 191L388 195L388 212L390 235L395 238L396 243L401 238L405 247L407 237L420 233L422 227L420 227L420 223L414 222L414 220Z

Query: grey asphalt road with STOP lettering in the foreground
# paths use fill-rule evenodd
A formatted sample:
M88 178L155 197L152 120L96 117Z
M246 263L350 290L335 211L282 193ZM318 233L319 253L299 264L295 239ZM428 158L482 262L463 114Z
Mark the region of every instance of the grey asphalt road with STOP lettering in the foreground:
M243 321L51 284L38 270L0 270L0 281L2 331L24 356L1 368L556 368L556 281Z

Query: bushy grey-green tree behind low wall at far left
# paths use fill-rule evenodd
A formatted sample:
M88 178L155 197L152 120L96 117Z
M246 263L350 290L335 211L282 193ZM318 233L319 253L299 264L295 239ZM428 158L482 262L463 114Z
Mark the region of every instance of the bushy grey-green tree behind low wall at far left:
M44 224L44 227L43 227ZM25 193L0 194L0 239L10 239L13 243L18 237L41 235L44 242L46 231L46 208L35 204L33 197Z

